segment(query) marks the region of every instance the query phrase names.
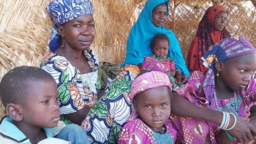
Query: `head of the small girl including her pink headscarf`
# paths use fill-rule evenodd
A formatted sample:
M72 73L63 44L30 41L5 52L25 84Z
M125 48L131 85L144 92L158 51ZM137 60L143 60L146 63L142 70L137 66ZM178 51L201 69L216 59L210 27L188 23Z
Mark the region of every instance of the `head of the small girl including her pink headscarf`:
M130 98L139 118L151 128L159 129L171 112L172 84L165 73L142 72L133 81Z

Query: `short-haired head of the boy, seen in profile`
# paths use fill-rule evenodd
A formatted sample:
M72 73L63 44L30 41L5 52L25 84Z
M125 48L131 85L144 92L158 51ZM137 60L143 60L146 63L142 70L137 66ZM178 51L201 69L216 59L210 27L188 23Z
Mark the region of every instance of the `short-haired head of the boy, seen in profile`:
M7 72L0 83L0 97L15 123L54 127L60 119L57 84L38 67L20 66Z

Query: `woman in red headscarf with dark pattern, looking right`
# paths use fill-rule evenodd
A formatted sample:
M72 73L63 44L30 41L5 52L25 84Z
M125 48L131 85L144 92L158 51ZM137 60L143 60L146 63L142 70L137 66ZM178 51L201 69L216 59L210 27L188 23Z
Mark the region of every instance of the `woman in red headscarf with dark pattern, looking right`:
M222 5L214 5L206 10L199 23L196 37L193 39L188 51L187 64L190 73L201 71L206 74L207 68L203 66L201 57L208 51L210 46L230 37L228 30L225 28L227 18L228 11Z

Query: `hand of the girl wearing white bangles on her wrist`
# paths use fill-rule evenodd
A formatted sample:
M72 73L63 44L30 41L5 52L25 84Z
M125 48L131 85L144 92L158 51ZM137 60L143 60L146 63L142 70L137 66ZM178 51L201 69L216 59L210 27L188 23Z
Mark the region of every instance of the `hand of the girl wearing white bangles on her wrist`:
M234 117L231 116L230 125L234 123ZM256 136L256 127L251 123L247 122L244 118L236 116L236 125L232 130L229 130L229 133L236 138L238 142L248 142L253 139L253 136Z

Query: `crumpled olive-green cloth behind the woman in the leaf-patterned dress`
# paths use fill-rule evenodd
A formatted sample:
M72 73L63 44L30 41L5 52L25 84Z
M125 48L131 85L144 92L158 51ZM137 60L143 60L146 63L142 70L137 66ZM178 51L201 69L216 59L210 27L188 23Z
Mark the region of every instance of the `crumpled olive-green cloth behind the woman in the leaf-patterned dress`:
M121 72L121 68L118 64L100 62L98 67L98 76L100 78L101 89L107 87L108 78L115 79L117 74Z

